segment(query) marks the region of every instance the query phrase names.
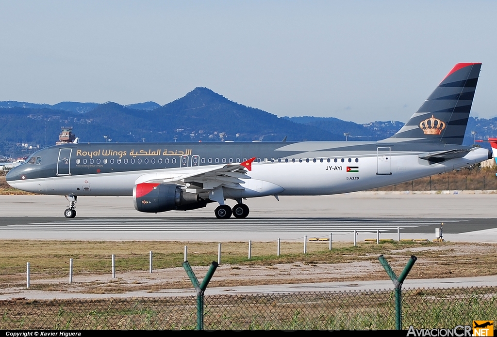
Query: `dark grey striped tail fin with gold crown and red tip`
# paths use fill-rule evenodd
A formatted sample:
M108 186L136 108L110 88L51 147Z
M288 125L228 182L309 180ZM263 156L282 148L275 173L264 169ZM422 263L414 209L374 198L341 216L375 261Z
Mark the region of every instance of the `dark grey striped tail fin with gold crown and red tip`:
M482 63L457 63L411 119L385 141L462 145Z

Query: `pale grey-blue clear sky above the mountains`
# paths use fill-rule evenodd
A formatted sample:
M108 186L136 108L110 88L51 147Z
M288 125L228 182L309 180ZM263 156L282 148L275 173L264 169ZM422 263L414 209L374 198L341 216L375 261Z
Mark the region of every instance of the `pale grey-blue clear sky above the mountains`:
M459 62L497 116L497 1L0 0L0 101L154 101L195 87L278 116L407 121Z

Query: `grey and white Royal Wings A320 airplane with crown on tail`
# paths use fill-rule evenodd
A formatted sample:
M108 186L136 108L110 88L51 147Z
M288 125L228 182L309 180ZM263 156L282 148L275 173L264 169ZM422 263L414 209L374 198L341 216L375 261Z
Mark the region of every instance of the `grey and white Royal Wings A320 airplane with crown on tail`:
M462 145L480 68L456 64L409 121L380 141L70 143L35 152L6 181L65 195L66 218L76 216L81 196L133 196L135 209L149 213L216 202L215 216L229 219L248 216L249 198L398 184L492 158L487 149Z

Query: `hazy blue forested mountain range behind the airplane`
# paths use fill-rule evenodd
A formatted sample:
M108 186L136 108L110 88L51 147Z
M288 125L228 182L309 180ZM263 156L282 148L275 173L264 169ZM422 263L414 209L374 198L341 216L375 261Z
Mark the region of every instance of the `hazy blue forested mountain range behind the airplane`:
M406 119L409 116L406 116ZM357 124L334 117L278 117L233 102L207 88L195 88L165 106L144 102L56 105L0 102L0 157L21 156L54 145L62 126L73 126L82 142L380 140L404 123ZM470 117L464 144L497 136L497 117ZM104 136L106 138L104 139ZM482 143L482 146L488 144Z

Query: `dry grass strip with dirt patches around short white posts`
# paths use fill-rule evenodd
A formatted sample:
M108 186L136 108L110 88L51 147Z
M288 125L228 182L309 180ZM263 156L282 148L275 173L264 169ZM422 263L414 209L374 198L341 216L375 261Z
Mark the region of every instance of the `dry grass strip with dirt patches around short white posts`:
M165 241L0 241L1 288L25 284L26 261L30 262L33 289L78 291L85 293L122 293L167 288L190 288L181 268L183 247L194 268L217 260L217 242ZM240 286L324 281L383 280L385 272L377 258L384 254L399 274L411 255L418 260L409 278L454 278L497 275L497 245L485 243L409 243L339 242L328 250L327 242L282 242L276 256L276 242L252 242L248 260L247 242L223 242L222 265L210 286ZM148 252L154 251L154 270L148 274ZM119 279L109 281L110 255L116 255ZM75 278L67 285L69 259L74 259ZM197 266L197 267L195 267ZM227 268L225 268L227 267ZM84 281L83 281L84 280Z

